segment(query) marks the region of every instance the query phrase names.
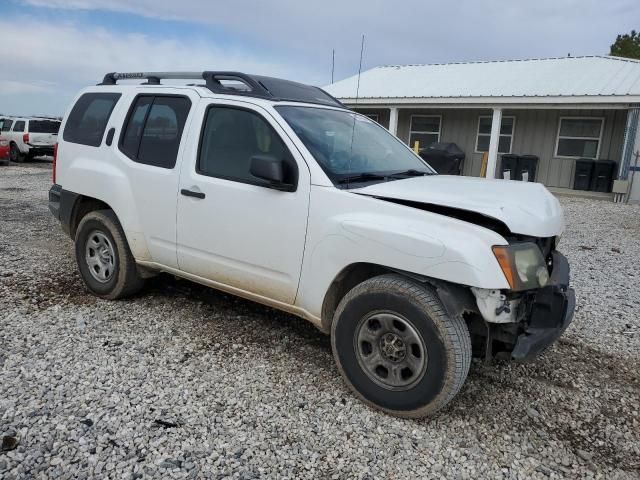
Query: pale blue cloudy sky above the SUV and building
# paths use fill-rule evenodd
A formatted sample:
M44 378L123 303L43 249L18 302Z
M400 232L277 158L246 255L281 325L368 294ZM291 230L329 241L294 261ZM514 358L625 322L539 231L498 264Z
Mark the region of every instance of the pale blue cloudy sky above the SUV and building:
M112 71L314 85L378 65L602 55L638 0L0 0L0 113L62 115Z

